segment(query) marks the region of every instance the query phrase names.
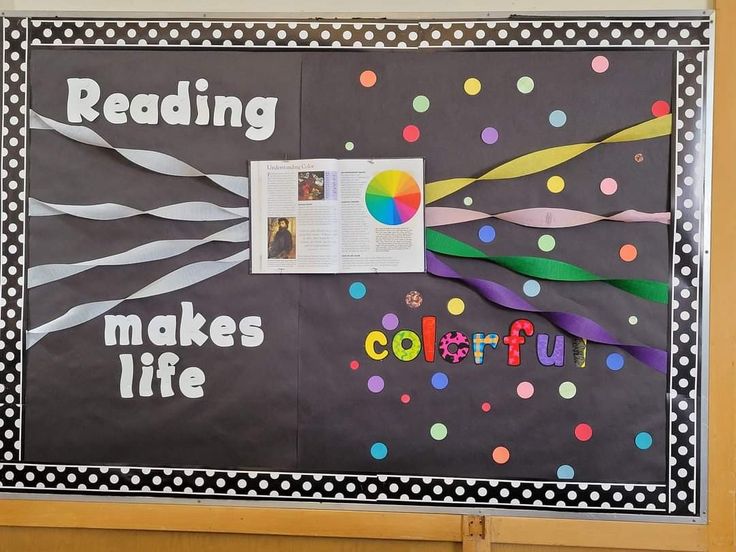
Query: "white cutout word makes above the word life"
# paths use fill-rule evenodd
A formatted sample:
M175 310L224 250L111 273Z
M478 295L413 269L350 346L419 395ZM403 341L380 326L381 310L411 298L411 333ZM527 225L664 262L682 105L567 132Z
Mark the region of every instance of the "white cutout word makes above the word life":
M240 344L243 347L258 347L263 343L263 330L260 316L246 316L240 322L229 316L218 316L210 322L206 333L202 328L207 319L194 312L189 302L181 303L181 317L174 314L154 316L148 322L146 334L153 345L192 344L201 346L208 339L218 347L235 345L233 334L240 331ZM142 345L143 323L135 314L110 314L105 316L105 345Z

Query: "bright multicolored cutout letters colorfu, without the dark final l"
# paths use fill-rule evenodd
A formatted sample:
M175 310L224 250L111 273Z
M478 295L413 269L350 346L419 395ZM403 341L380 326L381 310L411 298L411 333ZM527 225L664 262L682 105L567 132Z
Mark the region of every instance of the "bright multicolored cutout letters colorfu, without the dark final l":
M468 337L463 332L447 332L437 342L437 318L434 316L422 317L422 335L412 330L399 330L391 340L391 351L394 356L404 362L417 358L424 351L424 360L434 362L435 350L442 360L450 364L461 362L472 346L475 364L482 364L487 346L492 349L503 342L508 347L507 364L519 366L521 364L521 346L526 338L534 335L534 324L525 318L514 320L509 328L508 335L500 338L495 333L473 333ZM565 339L555 336L554 349L549 353L549 335L537 335L537 360L543 366L563 366L565 364ZM379 350L380 346L380 350ZM371 331L365 338L365 352L373 360L383 360L389 354L388 338L380 330Z

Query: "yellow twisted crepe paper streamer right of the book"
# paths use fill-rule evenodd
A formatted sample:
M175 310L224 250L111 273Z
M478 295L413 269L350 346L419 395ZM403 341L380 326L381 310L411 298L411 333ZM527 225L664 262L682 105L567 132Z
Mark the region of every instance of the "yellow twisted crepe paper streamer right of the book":
M506 178L518 178L551 169L557 165L569 161L588 150L601 144L613 144L616 142L634 142L666 136L672 132L672 114L649 119L643 123L625 128L598 142L586 142L582 144L568 144L555 146L543 150L533 151L507 161L491 169L477 178L450 178L429 182L424 187L424 202L429 205L443 197L462 190L465 186L478 180L502 180Z

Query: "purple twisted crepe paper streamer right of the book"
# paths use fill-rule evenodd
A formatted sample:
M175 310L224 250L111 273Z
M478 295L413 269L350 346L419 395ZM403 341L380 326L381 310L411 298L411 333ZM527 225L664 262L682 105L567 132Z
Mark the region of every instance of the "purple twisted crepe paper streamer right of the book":
M490 280L466 278L461 276L429 251L427 252L427 272L440 278L458 280L471 289L477 291L486 300L496 305L516 311L537 313L549 320L558 328L576 337L587 339L588 341L593 341L595 343L603 343L605 345L614 345L619 347L657 372L662 374L667 373L667 362L669 358L667 351L656 349L654 347L647 347L645 345L628 345L621 343L609 334L600 324L579 314L539 309L500 284L491 282Z

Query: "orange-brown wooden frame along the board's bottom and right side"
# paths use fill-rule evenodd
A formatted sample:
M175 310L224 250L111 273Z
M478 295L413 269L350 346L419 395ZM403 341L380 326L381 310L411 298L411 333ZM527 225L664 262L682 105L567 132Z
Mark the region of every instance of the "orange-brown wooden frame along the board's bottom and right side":
M490 550L495 544L607 547L642 550L730 550L736 529L736 438L733 391L736 362L731 343L736 326L730 323L736 293L730 271L736 268L728 246L736 238L727 188L736 170L729 153L736 147L731 125L736 107L732 67L736 42L726 31L736 26L736 6L716 5L716 76L712 201L712 265L710 310L710 394L708 522L705 525L641 523L522 517L477 517L452 514L343 512L315 509L252 508L208 504L100 503L70 500L6 499L0 502L5 527L98 528L194 531L439 541L462 543L467 550ZM0 533L1 534L1 533Z

